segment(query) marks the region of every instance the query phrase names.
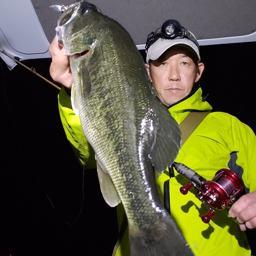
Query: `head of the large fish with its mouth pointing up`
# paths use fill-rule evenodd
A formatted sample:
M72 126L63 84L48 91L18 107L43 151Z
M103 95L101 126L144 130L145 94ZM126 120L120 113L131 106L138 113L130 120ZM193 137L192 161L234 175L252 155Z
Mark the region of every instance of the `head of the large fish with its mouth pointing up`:
M102 15L99 9L87 1L76 1L59 17L56 38L66 55L88 51L96 43L97 19Z

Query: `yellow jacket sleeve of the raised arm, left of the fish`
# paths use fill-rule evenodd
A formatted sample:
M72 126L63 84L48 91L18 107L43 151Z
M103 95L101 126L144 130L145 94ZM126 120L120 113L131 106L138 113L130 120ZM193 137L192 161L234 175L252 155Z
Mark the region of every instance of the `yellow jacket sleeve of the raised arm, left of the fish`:
M77 160L86 169L96 168L94 151L83 135L79 116L74 114L70 96L63 87L58 95L58 107L64 131Z

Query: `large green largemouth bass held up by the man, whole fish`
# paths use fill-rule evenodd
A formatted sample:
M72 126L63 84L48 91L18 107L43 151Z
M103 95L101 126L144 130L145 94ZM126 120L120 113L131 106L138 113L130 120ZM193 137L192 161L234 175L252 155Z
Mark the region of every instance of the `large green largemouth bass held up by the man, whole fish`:
M73 109L95 152L105 201L123 204L131 255L193 255L155 178L176 158L180 131L156 98L131 36L86 1L69 6L56 31L70 55Z

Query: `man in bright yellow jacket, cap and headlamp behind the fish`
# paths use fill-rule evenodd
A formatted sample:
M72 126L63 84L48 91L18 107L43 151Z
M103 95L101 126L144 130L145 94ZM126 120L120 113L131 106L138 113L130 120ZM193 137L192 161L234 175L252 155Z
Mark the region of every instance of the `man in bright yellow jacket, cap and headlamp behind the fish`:
M180 193L187 180L175 168L169 168L169 172L157 178L160 196L195 255L251 255L244 231L256 228L255 135L236 117L212 111L202 97L200 86L195 85L204 70L197 39L177 20L164 24L148 35L146 42L145 66L157 97L178 124L190 112L210 112L182 145L176 162L189 166L207 180L212 180L221 168L231 169L243 180L245 194L229 210L217 210L208 224L201 220L207 208L195 193L192 190L186 196ZM50 74L63 85L59 111L67 138L80 163L88 169L95 168L92 148L83 136L79 117L71 108L73 78L69 57L56 38L51 43L50 54ZM120 207L118 210L121 226L124 213ZM121 233L115 255L129 255L127 228Z

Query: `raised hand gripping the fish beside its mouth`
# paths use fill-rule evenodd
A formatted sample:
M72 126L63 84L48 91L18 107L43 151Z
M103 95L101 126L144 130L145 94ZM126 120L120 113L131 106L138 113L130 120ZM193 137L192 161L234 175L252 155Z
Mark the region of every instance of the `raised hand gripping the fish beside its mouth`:
M71 89L73 76L70 69L69 56L65 55L65 49L59 45L56 37L54 37L51 42L49 52L52 57L50 66L50 75L52 79Z

